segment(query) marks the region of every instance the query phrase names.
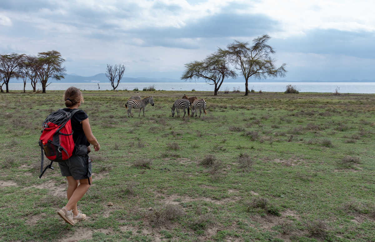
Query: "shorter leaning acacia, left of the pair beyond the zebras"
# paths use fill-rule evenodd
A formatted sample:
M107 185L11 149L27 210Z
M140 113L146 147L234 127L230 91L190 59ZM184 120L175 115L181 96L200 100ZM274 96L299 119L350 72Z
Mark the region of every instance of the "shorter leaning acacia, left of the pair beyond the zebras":
M236 73L229 68L226 52L217 50L208 55L203 61L193 61L185 64L181 79L199 79L204 78L206 83L214 85L214 94L220 89L225 78L236 77Z

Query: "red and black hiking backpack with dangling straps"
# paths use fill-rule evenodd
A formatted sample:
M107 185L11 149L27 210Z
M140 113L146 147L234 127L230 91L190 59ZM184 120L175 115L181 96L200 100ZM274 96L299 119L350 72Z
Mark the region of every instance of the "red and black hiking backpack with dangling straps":
M79 111L72 112L59 109L47 116L42 125L42 135L39 138L41 151L40 176L42 177L47 168L53 169L52 162L65 162L72 156L74 149L73 129L71 125L72 116ZM51 163L43 170L43 151Z

